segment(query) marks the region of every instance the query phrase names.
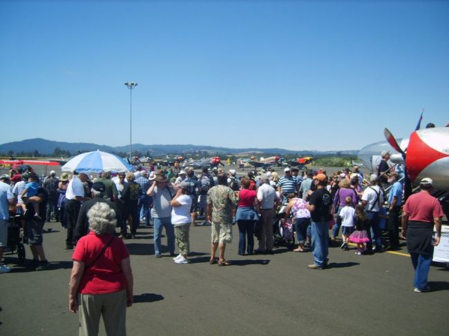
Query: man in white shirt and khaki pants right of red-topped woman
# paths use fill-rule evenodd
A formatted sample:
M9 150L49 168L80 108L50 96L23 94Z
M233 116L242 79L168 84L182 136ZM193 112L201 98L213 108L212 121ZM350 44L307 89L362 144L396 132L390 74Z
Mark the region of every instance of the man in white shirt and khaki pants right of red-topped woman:
M257 189L257 199L260 204L260 219L258 221L259 244L256 253L273 252L273 218L279 203L276 190L269 185L268 175L260 177L260 187Z

